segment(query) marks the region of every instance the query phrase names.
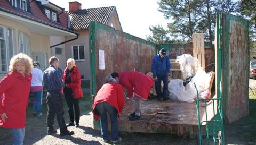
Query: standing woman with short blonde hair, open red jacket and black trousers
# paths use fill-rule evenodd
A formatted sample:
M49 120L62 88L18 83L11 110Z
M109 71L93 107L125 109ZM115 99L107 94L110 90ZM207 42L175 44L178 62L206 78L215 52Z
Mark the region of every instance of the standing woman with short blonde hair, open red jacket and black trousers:
M63 71L62 76L63 82L65 83L64 91L66 102L68 105L68 114L70 122L67 126L76 126L79 127L80 120L80 108L79 108L79 98L83 97L83 92L81 88L81 74L75 65L75 60L69 58L67 60L67 67ZM75 120L76 125L74 124L74 110L75 108Z

